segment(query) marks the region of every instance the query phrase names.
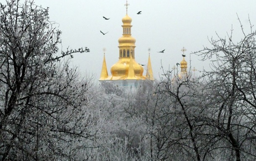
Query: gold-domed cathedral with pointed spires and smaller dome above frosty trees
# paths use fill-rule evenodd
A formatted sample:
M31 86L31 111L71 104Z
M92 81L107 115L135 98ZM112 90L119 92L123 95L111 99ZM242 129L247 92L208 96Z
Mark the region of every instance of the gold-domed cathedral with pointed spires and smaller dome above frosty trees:
M128 16L127 9L128 3L126 1L126 15L122 18L123 22L123 36L118 39L119 43L119 60L114 65L111 66L111 75L107 72L107 63L105 60L105 54L103 57L102 71L100 74L99 82L111 82L118 86L132 86L137 87L142 81L154 80L150 54L148 59L148 64L146 66L146 75L143 75L144 68L141 64L138 64L135 60L135 42L136 39L131 36L131 22L132 18ZM183 48L184 54L184 48ZM178 66L178 65L177 65ZM185 56L183 55L183 60L180 62L181 73L187 72L187 62L185 61Z

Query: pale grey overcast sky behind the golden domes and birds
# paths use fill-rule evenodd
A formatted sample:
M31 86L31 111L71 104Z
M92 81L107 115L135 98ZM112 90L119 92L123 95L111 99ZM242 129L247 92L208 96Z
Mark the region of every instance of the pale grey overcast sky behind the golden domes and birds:
M126 14L126 0L34 0L37 5L50 8L50 20L59 24L62 31L62 48L87 46L89 53L75 54L72 64L79 66L82 74L95 74L99 79L103 48L106 48L108 72L118 61L118 38L122 36L122 18ZM227 36L231 27L234 38L242 38L239 21L249 30L256 24L256 0L128 0L128 15L132 21L132 36L136 38L135 56L146 64L151 51L152 69L159 79L161 62L165 70L182 60L181 49L190 53L210 46L208 38ZM137 15L142 11L141 15ZM104 20L102 16L110 18ZM102 35L99 31L109 32ZM165 53L157 53L165 49ZM209 61L201 62L191 55L191 67L209 69Z

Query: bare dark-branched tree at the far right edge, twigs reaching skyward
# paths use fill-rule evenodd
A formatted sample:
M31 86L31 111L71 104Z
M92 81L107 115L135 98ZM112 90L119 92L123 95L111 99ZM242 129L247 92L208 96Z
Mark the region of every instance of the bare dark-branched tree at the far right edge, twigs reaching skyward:
M239 20L239 18L238 18ZM240 20L239 20L240 21ZM255 160L256 153L256 31L235 42L233 29L227 38L211 39L212 48L197 52L203 60L212 60L212 71L204 72L202 97L211 115L198 121L215 128L212 137L236 161Z

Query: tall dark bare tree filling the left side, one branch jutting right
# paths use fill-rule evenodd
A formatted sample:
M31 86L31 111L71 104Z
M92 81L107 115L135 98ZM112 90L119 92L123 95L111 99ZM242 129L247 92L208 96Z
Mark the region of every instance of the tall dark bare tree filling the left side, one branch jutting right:
M25 0L0 3L0 159L76 160L93 138L86 80L58 50L61 31L44 9ZM81 160L78 159L78 160Z

